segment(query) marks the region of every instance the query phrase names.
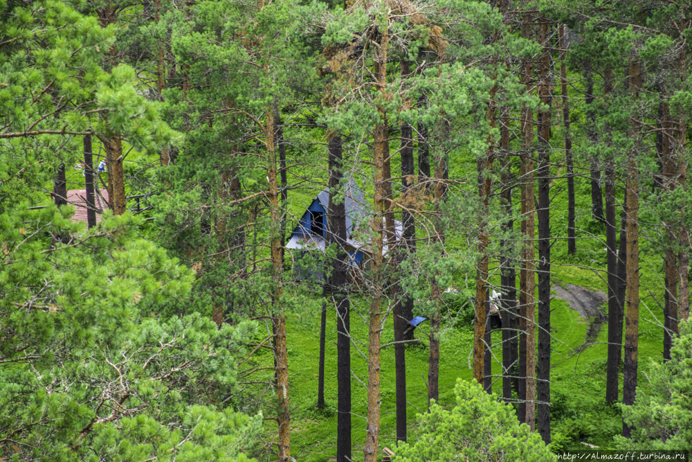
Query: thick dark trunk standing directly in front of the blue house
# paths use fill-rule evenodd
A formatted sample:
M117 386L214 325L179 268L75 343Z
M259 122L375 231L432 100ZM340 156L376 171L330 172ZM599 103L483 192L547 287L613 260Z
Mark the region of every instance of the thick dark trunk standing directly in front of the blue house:
M336 418L336 462L351 460L351 332L350 303L347 296L349 255L346 249L345 202L334 203L343 178L341 136L329 140L329 242L336 242L336 258L331 261L331 290L336 301L336 380L338 416Z

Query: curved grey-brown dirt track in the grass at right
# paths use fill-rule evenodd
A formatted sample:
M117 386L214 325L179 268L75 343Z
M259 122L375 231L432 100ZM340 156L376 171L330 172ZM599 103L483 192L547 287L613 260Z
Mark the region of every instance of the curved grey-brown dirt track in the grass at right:
M596 341L599 332L601 332L601 324L608 320L605 313L599 310L608 299L608 296L601 290L588 290L585 287L574 284L567 284L565 287L554 285L552 291L555 294L551 298L566 301L572 310L579 312L579 317L583 319L583 322L589 322L592 319L586 331L584 344L575 350L575 353L581 353L581 351Z

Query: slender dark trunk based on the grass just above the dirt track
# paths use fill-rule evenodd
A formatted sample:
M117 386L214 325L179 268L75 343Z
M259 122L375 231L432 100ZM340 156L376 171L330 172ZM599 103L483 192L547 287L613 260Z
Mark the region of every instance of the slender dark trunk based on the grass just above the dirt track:
M567 163L567 254L576 254L576 204L574 197L574 164L572 159L572 135L570 134L570 103L567 96L567 64L565 64L565 25L559 28L560 87L565 126L565 162Z

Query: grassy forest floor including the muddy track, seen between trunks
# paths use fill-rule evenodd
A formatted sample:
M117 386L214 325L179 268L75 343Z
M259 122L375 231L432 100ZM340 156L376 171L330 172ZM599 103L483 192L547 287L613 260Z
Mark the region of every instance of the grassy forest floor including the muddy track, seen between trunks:
M567 260L567 259L565 259ZM622 430L617 405L605 403L605 364L608 324L603 322L605 285L591 269L580 264L556 265L551 301L551 331L554 337L551 355L552 450L584 449L585 443L602 449L612 448L612 437ZM644 285L653 286L651 275ZM461 288L461 286L459 286ZM642 291L643 305L639 337L639 382L646 385L652 362L661 360L662 328L657 319L661 310L652 297ZM599 309L600 308L600 309ZM367 345L367 300L352 297L352 335ZM601 322L594 322L594 321ZM316 409L320 322L316 312L298 311L286 317L289 339L289 380L291 390L291 455L298 461L327 462L336 455L336 313L327 312L325 350L325 400L327 409ZM420 344L406 348L409 436L414 438L416 416L427 407L428 323L417 330ZM388 319L382 333L382 344L394 340L392 320ZM493 354L501 360L502 340L499 330L493 331ZM358 341L356 341L358 344ZM358 344L358 346L361 346ZM471 380L473 326L459 323L441 339L439 366L439 404L452 407L457 378ZM361 346L363 350L363 346ZM269 355L266 356L269 361ZM394 348L383 348L381 355L381 440L380 447L397 446ZM367 414L367 361L352 347L352 441L354 460L362 460ZM502 373L500 364L493 363L493 375ZM620 387L622 380L620 380ZM502 393L502 380L493 383L493 392ZM266 423L265 437L271 441L275 425Z

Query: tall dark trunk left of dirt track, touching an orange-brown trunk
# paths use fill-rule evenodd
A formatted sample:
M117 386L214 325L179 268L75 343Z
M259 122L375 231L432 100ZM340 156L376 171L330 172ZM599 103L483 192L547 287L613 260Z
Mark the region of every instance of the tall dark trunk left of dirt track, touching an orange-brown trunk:
M540 42L548 46L549 25L540 24ZM539 62L538 94L548 107L538 114L538 362L536 364L536 425L550 443L550 57L545 48Z

